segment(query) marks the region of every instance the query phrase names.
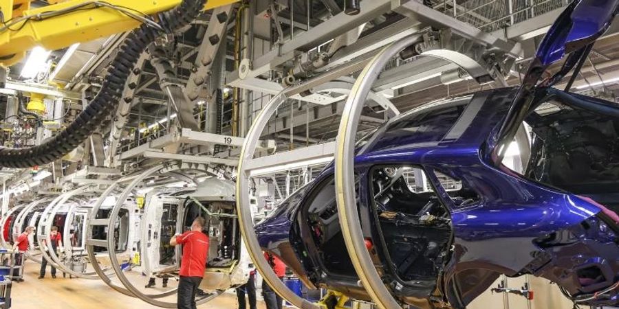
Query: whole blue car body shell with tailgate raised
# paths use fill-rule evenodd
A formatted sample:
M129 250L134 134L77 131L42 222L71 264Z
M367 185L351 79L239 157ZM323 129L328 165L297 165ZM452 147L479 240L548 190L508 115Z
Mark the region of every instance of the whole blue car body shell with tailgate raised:
M359 142L364 237L403 304L465 308L501 274L545 277L576 304L619 304L619 105L552 89L560 78L538 83L536 71L565 54L569 71L616 8L569 5L523 86L426 104ZM521 173L501 163L517 130L530 147ZM307 286L369 300L339 232L333 177L327 166L279 205L257 225L259 242Z

